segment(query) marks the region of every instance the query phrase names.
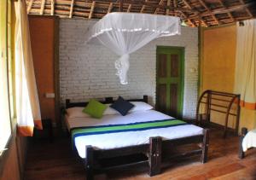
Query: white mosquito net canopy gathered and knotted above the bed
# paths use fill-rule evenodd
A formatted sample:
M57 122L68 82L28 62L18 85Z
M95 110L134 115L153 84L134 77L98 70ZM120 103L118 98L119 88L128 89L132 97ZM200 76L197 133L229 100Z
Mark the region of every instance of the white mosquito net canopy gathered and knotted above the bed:
M120 58L115 61L121 84L128 84L129 56L155 38L180 34L178 17L136 13L110 13L86 34L87 44L103 44Z

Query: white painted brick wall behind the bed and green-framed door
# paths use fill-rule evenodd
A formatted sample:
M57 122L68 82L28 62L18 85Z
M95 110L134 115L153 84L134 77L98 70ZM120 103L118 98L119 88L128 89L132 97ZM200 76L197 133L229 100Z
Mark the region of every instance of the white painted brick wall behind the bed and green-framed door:
M84 102L90 98L149 96L155 102L157 45L185 48L183 116L195 116L198 81L198 30L182 27L182 35L159 38L131 54L127 85L119 84L114 61L118 56L102 45L84 44L84 34L95 20L61 19L60 73L61 102L69 98ZM191 69L195 69L193 72Z

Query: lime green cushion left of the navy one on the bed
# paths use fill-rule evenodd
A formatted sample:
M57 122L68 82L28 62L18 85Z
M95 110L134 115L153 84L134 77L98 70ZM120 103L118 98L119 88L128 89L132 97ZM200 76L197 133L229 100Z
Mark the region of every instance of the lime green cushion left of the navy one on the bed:
M105 104L92 99L87 106L84 107L83 112L89 114L93 118L101 119L106 108L107 106Z

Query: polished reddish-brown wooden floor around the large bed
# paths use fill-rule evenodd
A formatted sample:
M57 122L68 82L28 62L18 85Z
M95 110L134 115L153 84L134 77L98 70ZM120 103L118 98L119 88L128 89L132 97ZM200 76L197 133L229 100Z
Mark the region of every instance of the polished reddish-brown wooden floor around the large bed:
M201 164L197 157L172 162L162 173L148 177L147 169L133 168L111 171L97 179L255 179L256 148L247 152L246 158L237 157L238 137L221 138L221 132L211 130L209 160ZM67 137L55 138L53 143L38 141L29 146L25 170L25 180L85 179L83 164L70 148Z

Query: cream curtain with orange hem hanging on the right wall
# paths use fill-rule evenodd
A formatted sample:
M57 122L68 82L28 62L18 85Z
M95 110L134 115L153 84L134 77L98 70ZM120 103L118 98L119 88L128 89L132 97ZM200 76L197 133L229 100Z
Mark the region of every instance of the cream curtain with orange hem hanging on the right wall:
M235 93L241 107L256 109L256 20L237 23Z

